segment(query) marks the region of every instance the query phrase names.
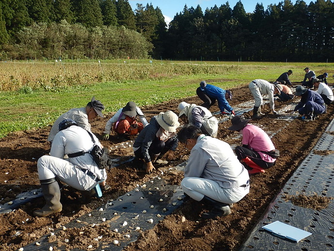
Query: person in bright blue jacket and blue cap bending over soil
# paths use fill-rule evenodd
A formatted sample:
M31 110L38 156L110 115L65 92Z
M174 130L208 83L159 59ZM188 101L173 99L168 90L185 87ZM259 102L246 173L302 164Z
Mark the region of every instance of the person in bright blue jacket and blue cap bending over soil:
M207 84L205 81L200 82L196 90L197 96L204 102L201 106L210 109L218 101L218 107L222 114L233 114L233 108L228 104L227 99L232 99L233 93L230 90L223 90L217 86ZM226 111L225 111L226 110Z

